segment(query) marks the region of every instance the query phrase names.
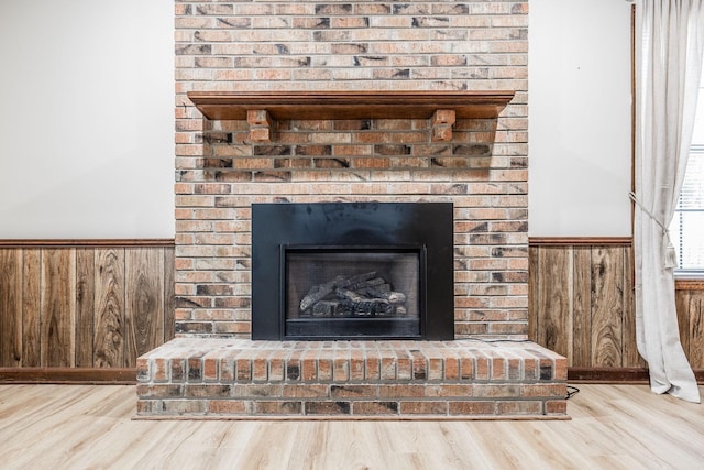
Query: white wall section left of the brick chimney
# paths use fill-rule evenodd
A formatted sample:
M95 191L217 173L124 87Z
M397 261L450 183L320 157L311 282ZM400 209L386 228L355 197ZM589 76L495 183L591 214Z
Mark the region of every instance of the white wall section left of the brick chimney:
M0 13L0 238L174 236L173 0Z

